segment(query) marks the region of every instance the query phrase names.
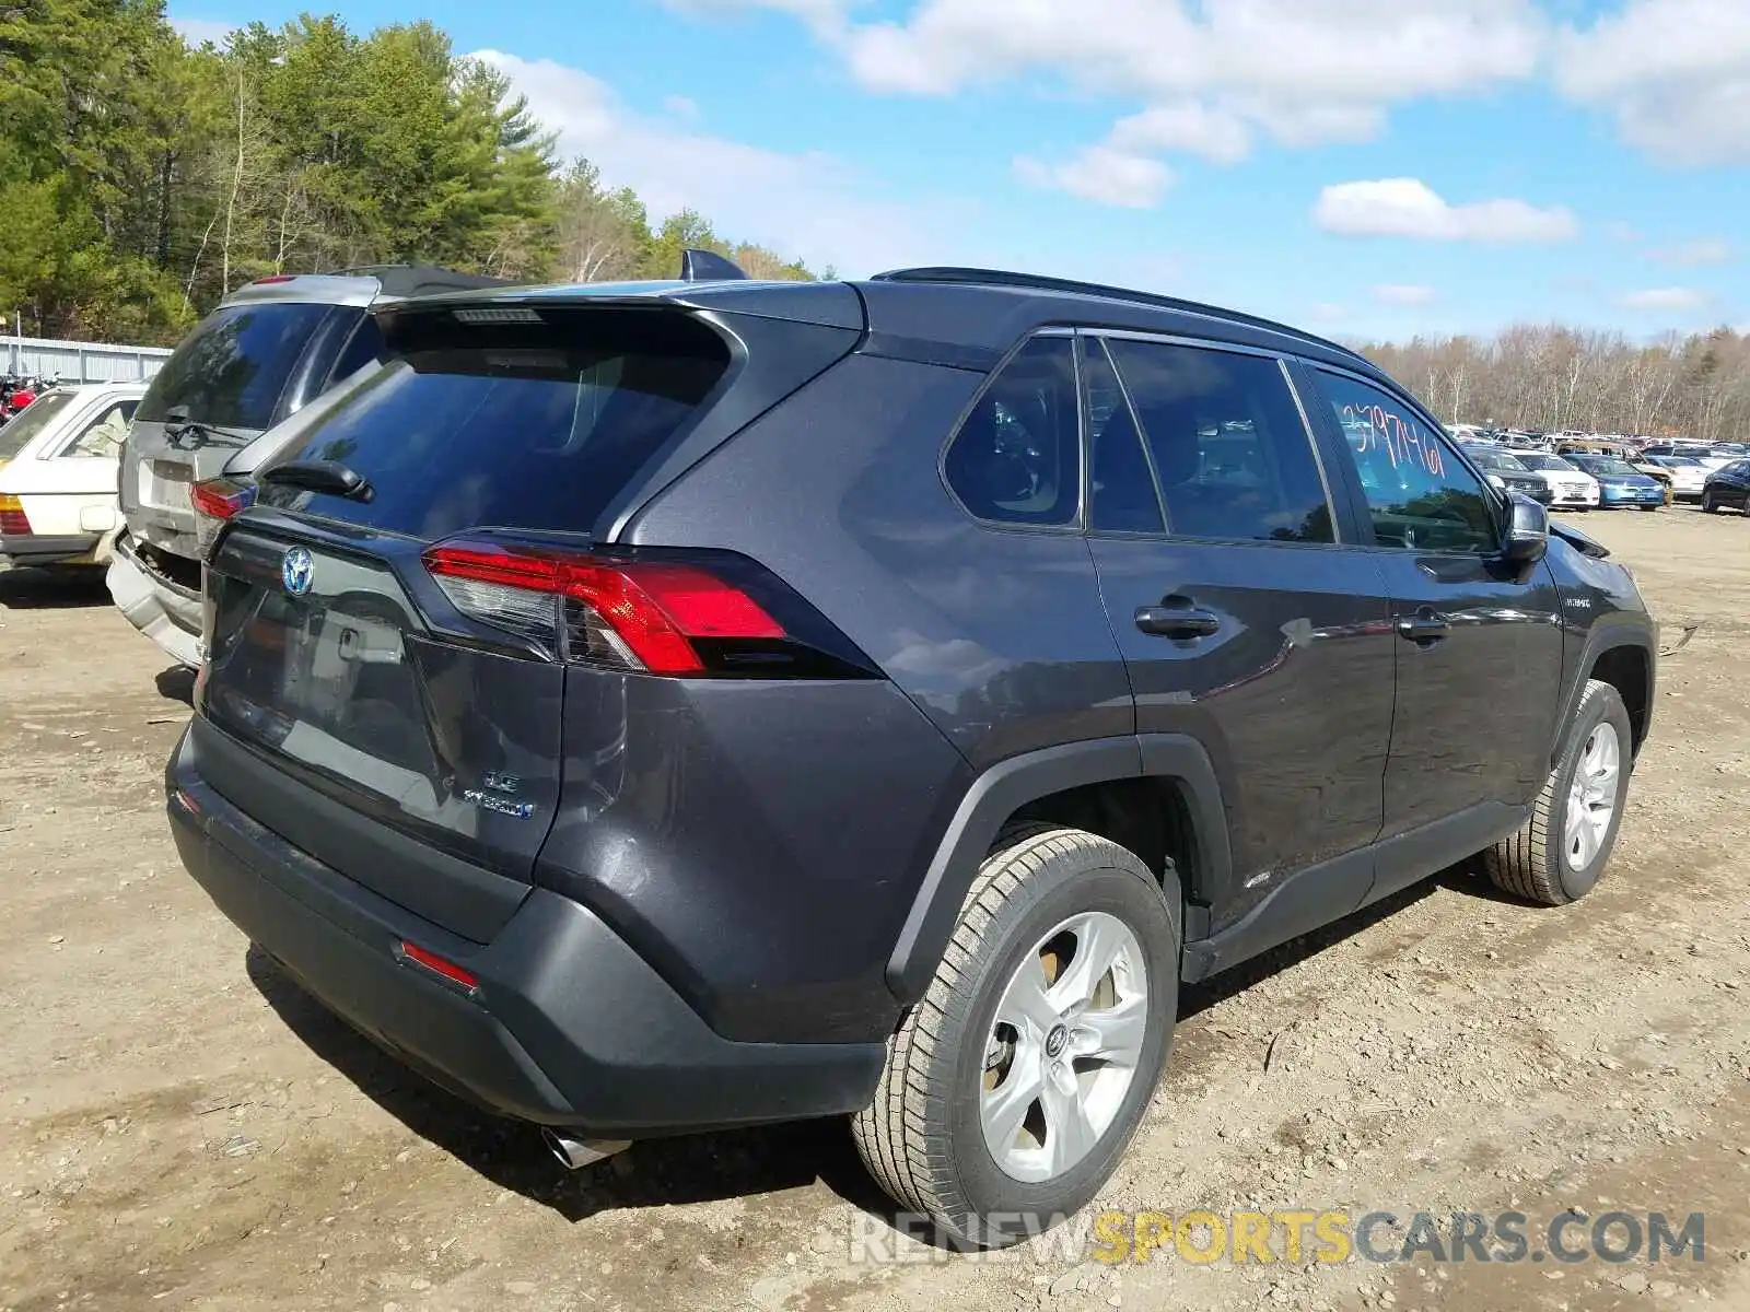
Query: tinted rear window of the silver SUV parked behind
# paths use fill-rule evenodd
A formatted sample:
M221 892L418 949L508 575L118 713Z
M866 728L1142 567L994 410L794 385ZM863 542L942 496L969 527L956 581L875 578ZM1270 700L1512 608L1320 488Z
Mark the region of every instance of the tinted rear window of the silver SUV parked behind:
M270 301L217 310L164 360L138 420L163 423L186 408L192 423L266 429L329 304Z

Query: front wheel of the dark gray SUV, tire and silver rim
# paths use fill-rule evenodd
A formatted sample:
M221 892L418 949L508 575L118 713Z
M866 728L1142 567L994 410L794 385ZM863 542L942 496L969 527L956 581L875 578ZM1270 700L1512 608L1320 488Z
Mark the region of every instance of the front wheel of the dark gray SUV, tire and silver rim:
M1542 906L1564 906L1592 890L1622 826L1633 742L1622 696L1587 679L1531 819L1482 854L1498 889Z

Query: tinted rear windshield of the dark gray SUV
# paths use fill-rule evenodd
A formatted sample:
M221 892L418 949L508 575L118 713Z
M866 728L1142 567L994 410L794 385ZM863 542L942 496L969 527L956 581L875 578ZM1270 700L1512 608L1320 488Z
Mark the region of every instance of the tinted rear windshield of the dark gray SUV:
M427 541L485 527L588 532L723 378L728 348L672 311L542 313L541 325L410 315L390 339L399 359L273 462L340 462L371 497L264 479L261 499Z

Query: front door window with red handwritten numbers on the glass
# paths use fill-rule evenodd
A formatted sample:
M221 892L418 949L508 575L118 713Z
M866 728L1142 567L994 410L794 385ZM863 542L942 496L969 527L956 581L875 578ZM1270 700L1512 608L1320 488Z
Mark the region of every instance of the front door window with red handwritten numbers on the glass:
M1416 415L1388 392L1320 371L1367 490L1374 537L1412 551L1496 548L1493 504Z

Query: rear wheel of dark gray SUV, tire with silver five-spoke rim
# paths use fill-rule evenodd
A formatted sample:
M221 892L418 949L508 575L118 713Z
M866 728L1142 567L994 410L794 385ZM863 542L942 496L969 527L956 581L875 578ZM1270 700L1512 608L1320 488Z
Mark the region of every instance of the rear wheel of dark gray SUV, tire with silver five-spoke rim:
M1082 829L999 840L852 1120L900 1207L959 1246L1003 1247L1094 1198L1167 1057L1180 906L1171 868L1157 880Z

